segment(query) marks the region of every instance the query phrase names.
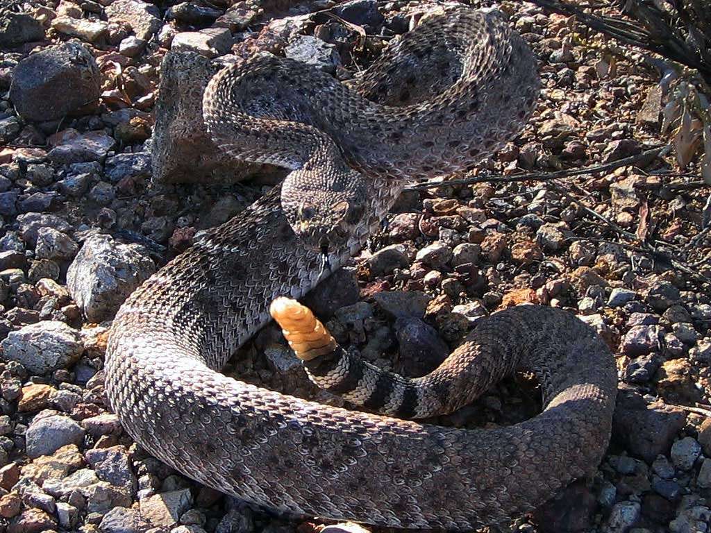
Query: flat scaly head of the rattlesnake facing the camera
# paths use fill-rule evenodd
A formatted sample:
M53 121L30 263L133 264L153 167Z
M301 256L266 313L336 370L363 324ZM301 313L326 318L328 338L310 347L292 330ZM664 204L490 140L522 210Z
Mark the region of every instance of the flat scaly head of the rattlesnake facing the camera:
M365 178L350 168L314 176L292 171L282 184L282 210L304 246L322 255L343 250L365 227Z

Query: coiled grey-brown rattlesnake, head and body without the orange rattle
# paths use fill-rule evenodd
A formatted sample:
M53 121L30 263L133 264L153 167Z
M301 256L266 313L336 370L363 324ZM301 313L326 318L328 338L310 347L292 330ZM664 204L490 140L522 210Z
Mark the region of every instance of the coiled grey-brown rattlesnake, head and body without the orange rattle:
M334 392L400 416L456 409L530 370L545 411L507 428L327 407L216 372L269 320L274 297L299 298L323 279L319 249L331 268L343 264L405 180L476 163L520 129L537 92L525 41L500 16L461 7L422 22L348 84L272 55L215 75L203 99L215 143L292 173L119 310L106 389L127 432L182 473L255 504L392 527L505 521L594 470L609 439L614 364L560 310L495 313L419 380L378 374L344 352L307 364Z

